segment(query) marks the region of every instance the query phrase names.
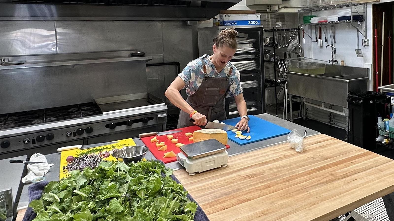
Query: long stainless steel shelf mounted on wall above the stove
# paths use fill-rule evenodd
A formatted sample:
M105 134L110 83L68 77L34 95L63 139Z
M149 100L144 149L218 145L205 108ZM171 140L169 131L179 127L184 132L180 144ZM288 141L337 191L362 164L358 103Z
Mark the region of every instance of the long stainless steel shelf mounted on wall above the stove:
M36 68L36 67L50 67L50 66L63 66L63 65L75 65L75 64L97 64L97 63L110 63L110 62L121 62L121 61L143 61L152 60L151 56L143 57L112 57L103 59L78 59L78 60L64 60L46 63L25 63L17 65L0 66L0 70L5 69L17 69L17 68Z

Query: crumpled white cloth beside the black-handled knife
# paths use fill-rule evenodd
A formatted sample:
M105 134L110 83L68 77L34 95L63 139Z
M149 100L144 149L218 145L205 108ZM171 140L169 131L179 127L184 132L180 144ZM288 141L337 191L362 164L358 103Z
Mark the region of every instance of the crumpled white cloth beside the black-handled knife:
M23 183L31 183L33 179L37 177L43 177L46 173L48 173L49 168L54 165L48 164L45 156L40 153L33 154L29 161L42 163L27 165L28 174L22 178Z

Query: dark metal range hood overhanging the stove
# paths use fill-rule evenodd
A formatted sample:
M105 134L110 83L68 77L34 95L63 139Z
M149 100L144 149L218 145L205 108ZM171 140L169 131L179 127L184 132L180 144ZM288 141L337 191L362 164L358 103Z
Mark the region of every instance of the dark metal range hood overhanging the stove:
M241 0L0 0L0 20L209 20Z

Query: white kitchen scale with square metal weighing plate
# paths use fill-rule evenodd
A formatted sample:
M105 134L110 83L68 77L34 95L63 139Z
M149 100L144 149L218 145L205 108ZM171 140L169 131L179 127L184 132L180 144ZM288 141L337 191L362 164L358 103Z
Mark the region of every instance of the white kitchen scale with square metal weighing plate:
M216 139L183 145L179 149L177 160L191 176L196 172L226 167L229 162L226 146Z

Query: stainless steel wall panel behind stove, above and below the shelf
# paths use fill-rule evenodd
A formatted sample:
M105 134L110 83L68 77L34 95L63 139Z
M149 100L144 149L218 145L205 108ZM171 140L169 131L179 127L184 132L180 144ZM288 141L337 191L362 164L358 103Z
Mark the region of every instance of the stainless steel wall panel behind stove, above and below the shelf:
M184 21L31 18L1 20L0 27L0 58L10 61L143 50L153 57L148 63L178 61L182 70L198 56L197 27ZM150 92L166 101L164 91L177 74L176 66L152 66L145 71L143 62L132 61L0 70L0 114L140 92Z

